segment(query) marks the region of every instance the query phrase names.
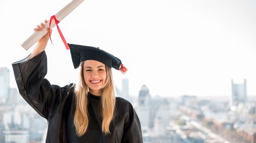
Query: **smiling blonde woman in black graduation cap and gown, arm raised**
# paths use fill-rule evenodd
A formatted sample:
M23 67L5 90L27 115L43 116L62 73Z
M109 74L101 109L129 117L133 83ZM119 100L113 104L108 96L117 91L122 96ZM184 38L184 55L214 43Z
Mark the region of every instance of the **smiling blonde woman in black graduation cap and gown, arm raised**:
M43 28L41 23L34 31ZM46 34L27 58L12 64L20 94L48 121L46 142L142 143L135 110L127 100L115 97L111 67L119 70L121 60L99 48L69 44L74 67L80 65L78 88L51 85L44 78L48 40Z

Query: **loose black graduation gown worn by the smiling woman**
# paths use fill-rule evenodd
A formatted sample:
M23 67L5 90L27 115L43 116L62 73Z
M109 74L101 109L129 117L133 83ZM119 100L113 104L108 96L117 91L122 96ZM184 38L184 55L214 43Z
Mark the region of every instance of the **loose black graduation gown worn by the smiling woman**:
M127 100L117 97L115 117L110 124L110 134L101 132L99 101L89 96L88 131L77 137L74 128L75 84L59 87L45 79L47 56L45 51L29 60L27 58L12 64L18 90L34 110L47 119L46 143L142 143L139 118Z

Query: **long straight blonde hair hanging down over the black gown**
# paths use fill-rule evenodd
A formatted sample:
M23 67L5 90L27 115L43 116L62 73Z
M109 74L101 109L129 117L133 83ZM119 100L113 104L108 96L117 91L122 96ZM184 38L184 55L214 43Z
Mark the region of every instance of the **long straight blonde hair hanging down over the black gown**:
M101 130L104 134L110 134L110 122L115 116L115 89L113 86L113 78L111 68L106 66L106 83L102 87L101 95ZM78 89L75 91L75 105L76 110L74 114L74 125L76 128L76 135L82 136L87 132L89 124L88 115L88 86L85 84L83 78L83 62L80 64Z

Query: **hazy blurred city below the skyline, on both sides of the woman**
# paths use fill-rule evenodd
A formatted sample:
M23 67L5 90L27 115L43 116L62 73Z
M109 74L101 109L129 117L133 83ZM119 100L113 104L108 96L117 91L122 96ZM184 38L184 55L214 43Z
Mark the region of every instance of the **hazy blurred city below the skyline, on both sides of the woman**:
M47 120L9 87L9 69L0 68L0 143L44 143ZM144 143L256 143L256 98L246 79L230 81L230 96L152 96L146 85L136 96L129 80L116 94L130 101L140 119Z

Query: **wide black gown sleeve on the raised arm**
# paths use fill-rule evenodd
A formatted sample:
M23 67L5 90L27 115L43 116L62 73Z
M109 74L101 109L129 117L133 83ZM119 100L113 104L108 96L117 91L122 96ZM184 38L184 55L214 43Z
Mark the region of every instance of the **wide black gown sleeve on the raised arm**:
M47 74L45 51L31 59L27 56L21 61L12 63L12 67L20 95L39 115L48 120L54 115L67 91L57 85L51 85L45 79Z

